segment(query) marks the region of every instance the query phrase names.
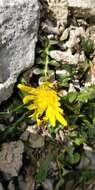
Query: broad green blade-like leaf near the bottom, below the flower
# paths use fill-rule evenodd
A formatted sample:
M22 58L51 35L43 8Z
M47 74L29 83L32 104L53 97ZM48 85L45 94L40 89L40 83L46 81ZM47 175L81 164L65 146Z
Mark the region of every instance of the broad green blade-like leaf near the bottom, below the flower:
M47 156L47 158L41 162L40 168L39 168L38 173L36 175L36 180L39 183L42 183L43 181L45 181L51 160L52 160L52 155L49 154Z

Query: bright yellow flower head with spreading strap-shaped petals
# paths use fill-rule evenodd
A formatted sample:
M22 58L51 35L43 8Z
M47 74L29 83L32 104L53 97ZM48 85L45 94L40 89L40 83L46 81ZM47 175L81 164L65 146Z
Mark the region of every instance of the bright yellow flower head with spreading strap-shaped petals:
M50 122L52 126L56 125L58 120L63 126L67 126L67 121L63 117L63 110L60 108L60 97L53 88L53 83L44 82L37 88L32 88L24 84L19 84L18 88L29 95L23 99L24 104L29 104L29 110L34 110L30 117L37 120L38 126L43 122Z

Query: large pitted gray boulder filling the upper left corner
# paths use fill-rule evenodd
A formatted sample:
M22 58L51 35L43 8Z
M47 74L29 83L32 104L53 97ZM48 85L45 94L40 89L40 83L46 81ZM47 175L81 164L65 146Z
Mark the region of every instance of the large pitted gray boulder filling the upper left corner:
M0 0L0 103L34 63L38 25L38 0Z

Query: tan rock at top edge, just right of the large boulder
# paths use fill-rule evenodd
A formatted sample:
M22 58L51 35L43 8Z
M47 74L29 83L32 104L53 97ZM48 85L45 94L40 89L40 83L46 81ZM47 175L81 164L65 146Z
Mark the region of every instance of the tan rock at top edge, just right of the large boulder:
M44 1L42 1L42 4ZM43 5L48 19L42 23L43 29L48 33L59 34L63 32L67 24L68 1L67 0L46 0L47 7ZM51 14L52 13L52 14ZM46 14L45 14L46 15Z

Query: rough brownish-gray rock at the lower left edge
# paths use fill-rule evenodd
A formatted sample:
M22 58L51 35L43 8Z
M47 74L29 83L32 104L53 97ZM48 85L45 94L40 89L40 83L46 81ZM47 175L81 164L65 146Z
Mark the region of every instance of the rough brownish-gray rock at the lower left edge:
M21 141L4 143L0 151L0 171L7 179L17 176L22 166L24 146Z

